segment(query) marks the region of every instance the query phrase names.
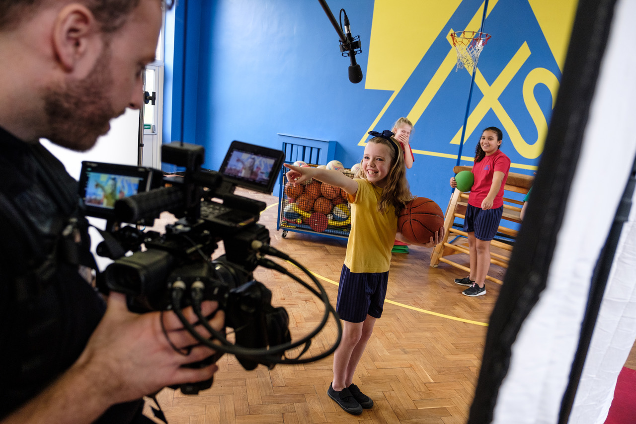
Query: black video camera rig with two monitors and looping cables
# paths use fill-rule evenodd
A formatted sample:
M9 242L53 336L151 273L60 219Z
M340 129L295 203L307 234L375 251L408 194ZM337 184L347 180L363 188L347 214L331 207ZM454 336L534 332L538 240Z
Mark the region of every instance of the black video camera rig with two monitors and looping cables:
M234 193L240 186L271 194L283 155L280 150L233 141L221 168L215 172L201 168L202 146L173 142L162 146L162 159L185 167L177 175L163 176L161 171L146 167L82 163L79 194L86 215L106 219L104 241L97 246L97 254L114 260L98 274L98 288L102 292L125 293L130 311L174 311L186 330L218 352L191 366L211 364L223 353L232 353L247 370L258 364L271 369L275 364L324 358L340 343L340 320L324 288L293 258L269 246L268 230L257 223L265 202ZM154 223L163 211L178 219L166 225L165 233L139 229L140 225ZM211 260L220 241L225 254ZM127 255L128 252L133 253ZM317 290L265 255L296 265L314 281ZM321 298L325 313L314 332L292 343L287 311L273 307L272 292L253 278L252 272L259 265L287 274ZM225 332L207 325L200 309L203 300L218 301L219 309L225 311L226 327L233 329L235 343L228 341ZM193 307L211 338L201 336L184 318L181 310L187 306ZM336 343L315 357L300 358L329 314L338 325ZM214 339L221 344L212 344ZM285 357L287 350L302 344L305 347L298 357ZM194 394L211 385L209 380L179 388Z

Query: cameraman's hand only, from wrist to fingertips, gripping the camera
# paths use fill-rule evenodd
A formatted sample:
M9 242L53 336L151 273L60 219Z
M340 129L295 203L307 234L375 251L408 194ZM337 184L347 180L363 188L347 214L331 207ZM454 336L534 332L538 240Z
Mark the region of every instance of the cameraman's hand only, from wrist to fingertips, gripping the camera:
M204 302L202 313L209 316L217 307L216 302ZM191 324L197 322L191 307L183 313ZM166 335L160 322L162 318ZM216 330L223 329L224 322L223 311L218 311L209 321ZM209 337L202 325L195 328L202 336ZM175 351L166 336L182 352ZM182 365L204 360L212 354L214 350L200 345L183 329L174 312L135 314L128 311L123 294L111 293L106 314L74 367L92 376L94 384L102 388L102 395L112 399L114 404L139 399L165 386L211 378L218 369L214 364L203 368Z

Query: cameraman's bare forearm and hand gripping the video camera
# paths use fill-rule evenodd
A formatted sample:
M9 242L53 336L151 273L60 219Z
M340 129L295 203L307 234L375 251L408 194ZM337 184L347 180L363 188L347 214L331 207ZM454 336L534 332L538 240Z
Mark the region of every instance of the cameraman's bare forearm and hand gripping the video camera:
M203 302L205 316L216 311L216 302ZM192 308L183 310L188 322L197 322ZM174 312L135 314L128 311L125 296L111 293L106 314L88 340L78 360L43 392L13 411L2 424L88 424L114 404L141 399L165 386L197 383L212 377L218 367L188 368L183 365L210 357L214 350L201 346ZM216 330L225 327L225 314L209 320ZM202 325L195 329L209 337ZM185 354L187 353L187 355Z

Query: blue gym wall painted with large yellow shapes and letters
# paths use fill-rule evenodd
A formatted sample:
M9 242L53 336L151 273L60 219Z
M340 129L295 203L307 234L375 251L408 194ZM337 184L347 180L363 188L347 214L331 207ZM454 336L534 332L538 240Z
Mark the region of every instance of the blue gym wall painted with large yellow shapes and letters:
M397 9L401 3L411 7ZM455 72L448 34L478 29L483 3L328 4L336 20L344 8L360 36L359 84L349 82L349 59L317 0L177 2L169 15L174 33L167 31L174 52L166 58L172 102L164 141L204 145L204 167L218 169L232 140L280 148L277 134L293 134L337 141L336 159L350 167L361 159L367 131L408 116L415 122L411 192L444 209L471 85L471 74ZM547 4L490 1L485 31L492 39L479 61L461 164L472 164L481 129L495 125L504 131L511 171L536 169L561 76L553 45L563 36L550 28L569 33L570 25L568 13L550 15ZM540 24L542 10L550 16Z

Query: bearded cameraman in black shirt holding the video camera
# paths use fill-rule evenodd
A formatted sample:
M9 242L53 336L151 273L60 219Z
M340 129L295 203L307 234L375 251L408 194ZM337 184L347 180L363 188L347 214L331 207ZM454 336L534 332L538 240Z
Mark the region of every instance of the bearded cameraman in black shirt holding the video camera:
M161 22L162 0L0 0L0 423L149 423L142 396L217 369L181 366L213 351L174 313L130 313L81 276L77 183L39 144L88 150L139 109Z

